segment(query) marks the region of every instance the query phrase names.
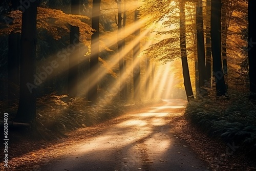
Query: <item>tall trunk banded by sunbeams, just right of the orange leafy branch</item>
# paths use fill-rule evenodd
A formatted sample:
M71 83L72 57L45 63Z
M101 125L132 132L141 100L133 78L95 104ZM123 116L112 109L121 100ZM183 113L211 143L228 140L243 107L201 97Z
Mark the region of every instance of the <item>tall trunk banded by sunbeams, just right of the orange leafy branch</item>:
M98 68L99 68L99 16L100 16L101 0L93 0L92 9L92 29L95 31L92 34L91 40L91 56L90 56L90 78L88 100L92 104L98 99Z

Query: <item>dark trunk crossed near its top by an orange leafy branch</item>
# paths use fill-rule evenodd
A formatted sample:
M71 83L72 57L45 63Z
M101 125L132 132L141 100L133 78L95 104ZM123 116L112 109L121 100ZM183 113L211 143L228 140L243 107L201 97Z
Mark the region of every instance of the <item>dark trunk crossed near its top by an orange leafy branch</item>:
M79 0L71 1L71 14L80 14L79 3ZM79 67L79 27L70 26L70 45L72 45L75 49L69 56L68 94L69 97L77 97Z

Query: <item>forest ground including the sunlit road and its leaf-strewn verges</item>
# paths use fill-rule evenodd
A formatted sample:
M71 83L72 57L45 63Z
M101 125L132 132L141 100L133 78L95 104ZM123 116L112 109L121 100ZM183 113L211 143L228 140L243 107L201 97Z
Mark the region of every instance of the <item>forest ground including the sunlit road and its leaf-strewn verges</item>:
M8 147L0 170L256 170L235 144L208 138L184 119L185 101L165 100L52 142Z

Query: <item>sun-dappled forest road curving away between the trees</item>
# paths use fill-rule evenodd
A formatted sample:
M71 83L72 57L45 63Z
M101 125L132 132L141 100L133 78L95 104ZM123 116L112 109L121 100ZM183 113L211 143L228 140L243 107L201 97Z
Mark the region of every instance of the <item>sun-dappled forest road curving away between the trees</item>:
M162 106L129 114L100 135L69 148L41 171L209 170L197 154L172 133L169 121L186 101L165 99ZM184 110L178 110L184 112Z

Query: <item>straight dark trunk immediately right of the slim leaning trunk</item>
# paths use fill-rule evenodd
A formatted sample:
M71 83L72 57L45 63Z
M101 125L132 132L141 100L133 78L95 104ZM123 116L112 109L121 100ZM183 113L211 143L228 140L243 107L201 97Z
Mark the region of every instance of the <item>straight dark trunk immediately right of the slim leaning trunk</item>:
M203 1L198 0L196 4L197 23L197 55L198 55L198 75L199 93L202 93L205 80L205 50L204 50L204 25L203 25Z

